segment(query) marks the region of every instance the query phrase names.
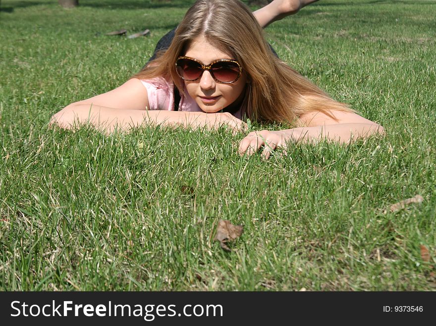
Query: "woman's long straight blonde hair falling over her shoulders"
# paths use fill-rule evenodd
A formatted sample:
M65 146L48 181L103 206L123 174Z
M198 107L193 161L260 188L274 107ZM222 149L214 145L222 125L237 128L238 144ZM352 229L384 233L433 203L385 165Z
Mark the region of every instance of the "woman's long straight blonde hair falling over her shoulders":
M247 73L242 107L252 120L294 124L308 112L332 117L331 110L351 111L275 57L256 18L239 0L197 0L177 27L169 48L132 78L163 76L184 94L175 62L200 36L233 55Z

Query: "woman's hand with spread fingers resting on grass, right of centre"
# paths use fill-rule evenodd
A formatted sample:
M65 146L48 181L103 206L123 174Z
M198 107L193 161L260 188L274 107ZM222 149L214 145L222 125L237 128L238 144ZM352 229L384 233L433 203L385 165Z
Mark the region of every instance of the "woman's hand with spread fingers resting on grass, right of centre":
M247 154L250 156L257 152L262 146L262 157L268 159L271 153L277 148L286 148L286 142L295 141L292 134L286 133L285 130L279 131L252 131L239 144L239 155Z

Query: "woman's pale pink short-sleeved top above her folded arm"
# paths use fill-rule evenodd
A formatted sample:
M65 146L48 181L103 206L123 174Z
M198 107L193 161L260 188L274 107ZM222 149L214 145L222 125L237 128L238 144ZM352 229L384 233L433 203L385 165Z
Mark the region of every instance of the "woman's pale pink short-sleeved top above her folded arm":
M163 77L143 80L142 84L147 88L149 110L167 110L174 111L174 83ZM200 107L195 100L189 96L186 88L185 94L180 94L179 111L201 112ZM241 119L241 109L233 114L236 118Z

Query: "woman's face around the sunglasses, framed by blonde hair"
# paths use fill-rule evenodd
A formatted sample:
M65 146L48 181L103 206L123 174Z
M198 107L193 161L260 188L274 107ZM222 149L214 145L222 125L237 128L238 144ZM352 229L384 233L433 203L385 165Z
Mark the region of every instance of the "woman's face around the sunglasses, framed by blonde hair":
M219 59L231 59L229 54L220 51L209 43L203 36L195 39L185 53L200 61L203 65ZM208 70L203 71L202 76L194 81L184 81L188 94L195 100L200 109L207 113L216 113L240 99L245 89L247 76L242 71L237 81L231 84L222 84L212 77Z

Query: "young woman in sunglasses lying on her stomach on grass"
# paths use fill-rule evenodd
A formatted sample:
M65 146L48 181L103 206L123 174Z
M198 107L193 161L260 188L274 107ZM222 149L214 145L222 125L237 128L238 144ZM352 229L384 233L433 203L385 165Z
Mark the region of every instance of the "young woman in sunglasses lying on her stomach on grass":
M241 140L241 155L264 147L265 158L289 142L348 142L382 133L380 125L278 59L265 41L262 26L310 2L274 0L253 15L239 0L198 0L166 51L118 88L66 106L52 123L62 128L90 123L107 131L157 124L245 130L246 118L291 124L286 130L253 131Z

